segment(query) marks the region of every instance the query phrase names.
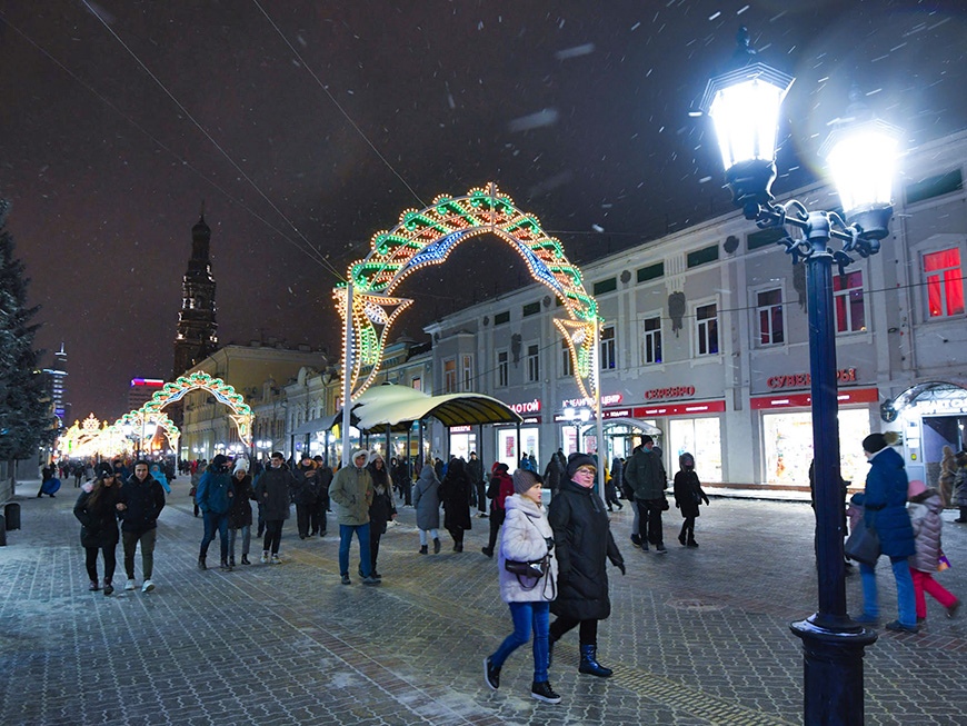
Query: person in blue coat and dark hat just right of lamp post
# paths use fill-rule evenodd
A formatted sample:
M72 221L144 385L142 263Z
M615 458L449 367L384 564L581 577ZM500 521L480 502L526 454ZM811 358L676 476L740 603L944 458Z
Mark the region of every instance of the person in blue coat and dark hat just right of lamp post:
M869 461L866 488L853 499L861 506L867 529L879 535L880 548L890 558L894 579L897 583L897 619L887 624L888 630L917 633L914 579L907 558L916 554L914 528L907 513L907 473L904 459L888 445L883 434L870 434L863 439L863 452ZM879 601L876 587L876 566L859 564L863 579L863 615L857 623L877 625Z

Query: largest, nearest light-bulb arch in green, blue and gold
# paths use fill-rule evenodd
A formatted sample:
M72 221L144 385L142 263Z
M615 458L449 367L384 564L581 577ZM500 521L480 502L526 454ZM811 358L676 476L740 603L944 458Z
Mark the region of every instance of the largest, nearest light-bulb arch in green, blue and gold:
M441 265L460 242L477 235L496 235L527 262L530 276L549 288L560 300L567 318L554 324L570 348L575 380L581 396L594 390L595 325L599 325L598 304L584 288L581 271L571 265L558 239L540 228L535 215L518 209L514 200L489 183L471 189L465 197L441 195L426 209L408 209L389 231L372 236L370 252L349 266L352 282L353 348L350 399L357 398L376 379L389 329L412 300L393 297L392 291L408 275L427 265ZM343 360L347 360L347 287L333 291L342 318ZM362 382L362 371L369 372Z

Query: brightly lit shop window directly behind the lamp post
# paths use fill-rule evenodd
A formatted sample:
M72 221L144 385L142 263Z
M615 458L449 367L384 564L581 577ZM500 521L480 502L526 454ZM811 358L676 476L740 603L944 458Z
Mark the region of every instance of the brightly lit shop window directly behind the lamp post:
M868 434L869 411L839 410L840 475L854 484L866 480L869 467L860 441ZM813 416L809 411L765 414L762 442L767 484L809 486L809 464L813 461Z

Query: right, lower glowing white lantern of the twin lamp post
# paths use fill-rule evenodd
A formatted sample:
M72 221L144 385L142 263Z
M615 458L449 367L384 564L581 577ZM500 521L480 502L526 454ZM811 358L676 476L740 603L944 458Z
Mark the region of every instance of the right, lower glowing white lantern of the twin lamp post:
M899 140L900 129L870 119L834 128L819 150L844 213L871 239L887 236Z

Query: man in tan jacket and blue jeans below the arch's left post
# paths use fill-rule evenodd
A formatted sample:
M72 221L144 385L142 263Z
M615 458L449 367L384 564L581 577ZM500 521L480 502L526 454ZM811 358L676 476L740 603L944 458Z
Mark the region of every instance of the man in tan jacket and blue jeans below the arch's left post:
M372 504L372 477L366 465L369 451L357 449L352 452L349 466L345 466L332 478L329 499L336 505L336 521L339 523L339 575L343 585L349 579L349 546L352 535L359 540L359 571L363 585L378 585L379 578L372 576L372 559L369 551L369 507Z

